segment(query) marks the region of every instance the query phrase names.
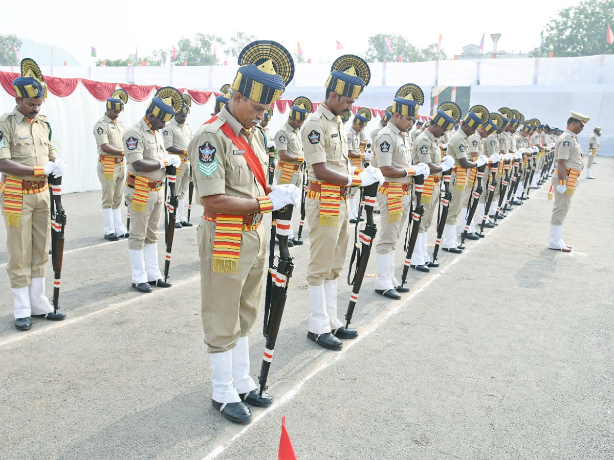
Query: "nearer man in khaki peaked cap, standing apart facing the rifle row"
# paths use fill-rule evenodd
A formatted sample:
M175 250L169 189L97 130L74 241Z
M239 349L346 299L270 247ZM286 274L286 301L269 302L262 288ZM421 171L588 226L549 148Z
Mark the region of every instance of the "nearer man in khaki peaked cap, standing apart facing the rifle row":
M552 175L551 183L555 190L548 248L556 251L571 252L572 250L563 241L563 221L569 211L573 191L578 186L577 180L584 167L578 134L582 132L590 119L581 113L571 112L567 120L567 129L559 136L554 146L556 170Z

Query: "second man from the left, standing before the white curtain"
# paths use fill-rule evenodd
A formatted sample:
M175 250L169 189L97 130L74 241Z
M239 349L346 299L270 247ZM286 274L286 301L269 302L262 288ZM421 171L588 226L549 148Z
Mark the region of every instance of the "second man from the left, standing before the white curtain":
M94 125L94 137L98 146L98 180L103 186L104 238L117 241L128 238L128 230L122 221L123 183L126 166L123 150L123 133L126 129L118 120L123 106L128 102L125 90L115 90L107 99L103 118Z

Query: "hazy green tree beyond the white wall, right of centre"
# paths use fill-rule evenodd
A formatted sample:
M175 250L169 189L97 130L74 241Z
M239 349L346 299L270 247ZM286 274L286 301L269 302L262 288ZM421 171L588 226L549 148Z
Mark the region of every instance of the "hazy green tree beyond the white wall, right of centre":
M391 41L392 53L388 52L388 47L384 37ZM377 34L369 37L369 46L365 59L370 63L383 63L384 61L397 61L397 56L401 56L403 62L417 63L421 61L437 61L437 59L447 59L443 51L437 50L437 44L433 43L426 48L416 48L402 35Z

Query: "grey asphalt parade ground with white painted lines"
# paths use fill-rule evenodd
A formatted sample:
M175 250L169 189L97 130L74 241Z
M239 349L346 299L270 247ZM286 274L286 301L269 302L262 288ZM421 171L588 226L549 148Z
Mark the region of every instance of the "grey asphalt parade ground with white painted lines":
M572 253L546 248L548 185L532 190L462 255L440 251L440 268L410 270L401 301L375 294L366 277L352 320L359 338L340 352L306 338L305 231L291 249L268 380L276 400L252 409L247 426L211 405L196 227L175 234L173 287L141 294L130 286L126 240L103 239L99 192L66 195L68 318L34 318L17 331L0 278L0 458L274 459L286 415L299 459L613 459L612 160L599 157L593 173L565 220ZM192 220L200 213L195 206ZM162 242L158 250L162 265ZM397 277L403 258L397 251ZM52 277L49 266L49 294ZM257 380L262 315L250 342Z

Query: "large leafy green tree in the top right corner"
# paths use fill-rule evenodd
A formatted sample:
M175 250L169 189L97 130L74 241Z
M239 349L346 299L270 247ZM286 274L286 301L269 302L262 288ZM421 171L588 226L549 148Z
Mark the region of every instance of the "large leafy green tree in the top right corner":
M554 56L592 56L614 54L614 46L605 41L608 23L614 26L614 0L589 0L558 12L545 26ZM545 48L540 50L539 48ZM547 55L549 48L535 48L534 56Z

